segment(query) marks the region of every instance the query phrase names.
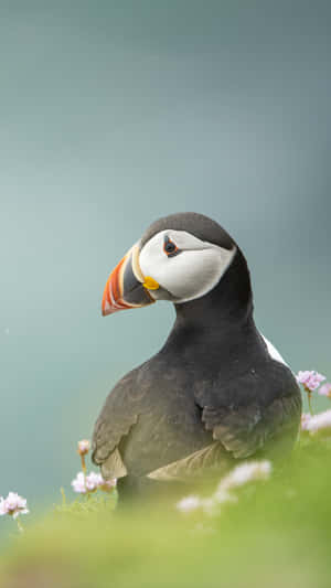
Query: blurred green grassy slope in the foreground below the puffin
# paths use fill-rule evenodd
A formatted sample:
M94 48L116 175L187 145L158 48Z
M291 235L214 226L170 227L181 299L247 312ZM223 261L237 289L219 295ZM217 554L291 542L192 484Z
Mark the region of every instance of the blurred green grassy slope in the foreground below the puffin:
M113 512L111 500L52 513L7 543L0 586L329 588L330 458L328 441L303 438L270 481L213 517L161 503Z

